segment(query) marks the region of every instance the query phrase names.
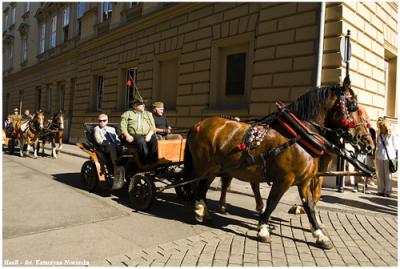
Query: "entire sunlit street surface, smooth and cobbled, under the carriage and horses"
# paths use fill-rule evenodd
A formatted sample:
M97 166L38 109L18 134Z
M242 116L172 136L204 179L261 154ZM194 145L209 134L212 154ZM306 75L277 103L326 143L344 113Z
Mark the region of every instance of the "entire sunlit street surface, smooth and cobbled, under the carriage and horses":
M71 172L79 169L85 156L73 145L64 147L61 158ZM213 221L206 226L193 222L193 205L179 201L173 192L159 194L148 212L132 211L126 193L101 197L80 190L79 174L56 174L65 168L55 160L32 162L14 156L5 160L5 172L15 177L5 181L6 194L34 190L26 197L5 197L7 261L75 258L90 266L398 266L397 178L391 198L352 193L352 186L346 186L344 193L324 188L319 216L334 247L322 250L315 244L307 216L287 213L300 202L296 188L285 193L272 213L272 242L261 243L254 198L246 182L232 181L227 198L230 214L224 215L215 212L220 190L214 181L208 193ZM49 163L52 178L41 172ZM28 173L35 177L27 177ZM46 188L52 192L44 195ZM270 187L262 184L260 190L265 199ZM376 186L371 190L375 193ZM19 221L26 214L36 217L29 224ZM50 216L52 221L47 221Z

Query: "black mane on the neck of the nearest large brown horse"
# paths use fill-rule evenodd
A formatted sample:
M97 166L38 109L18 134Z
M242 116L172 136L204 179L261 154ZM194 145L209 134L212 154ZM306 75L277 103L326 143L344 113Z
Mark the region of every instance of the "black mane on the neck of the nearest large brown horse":
M322 106L337 95L338 86L316 87L288 105L288 109L303 120L311 120L321 113Z

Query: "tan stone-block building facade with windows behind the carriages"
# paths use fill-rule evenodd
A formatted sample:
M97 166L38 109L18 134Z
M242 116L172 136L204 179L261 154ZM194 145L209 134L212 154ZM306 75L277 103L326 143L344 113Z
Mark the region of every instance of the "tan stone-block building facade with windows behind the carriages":
M397 14L396 2L3 3L3 117L20 103L63 109L75 142L100 111L119 122L135 86L175 127L266 115L319 73L341 83L350 30L352 87L372 120L395 121Z

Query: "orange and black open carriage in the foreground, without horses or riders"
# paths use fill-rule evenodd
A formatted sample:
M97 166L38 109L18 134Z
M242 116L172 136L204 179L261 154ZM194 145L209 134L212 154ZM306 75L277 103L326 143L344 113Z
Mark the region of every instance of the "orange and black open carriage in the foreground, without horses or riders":
M190 185L173 185L183 182L183 155L186 139L158 140L158 161L152 165L141 164L136 148L122 143L120 146L117 164L124 167L124 181L126 184L115 187L113 165L104 147L97 144L93 130L97 123L85 123L86 142L77 146L85 151L90 159L82 165L81 178L90 192L96 189L111 192L128 185L129 199L132 207L138 210L148 209L155 198L157 191L166 188L175 188L178 197L190 199L192 191ZM117 123L109 123L119 133Z

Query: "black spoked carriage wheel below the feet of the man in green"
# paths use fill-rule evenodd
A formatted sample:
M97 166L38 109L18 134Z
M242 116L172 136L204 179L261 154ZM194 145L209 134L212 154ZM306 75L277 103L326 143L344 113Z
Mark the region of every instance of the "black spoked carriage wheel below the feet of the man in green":
M131 177L128 193L133 208L146 210L154 201L156 186L148 174L137 173Z

